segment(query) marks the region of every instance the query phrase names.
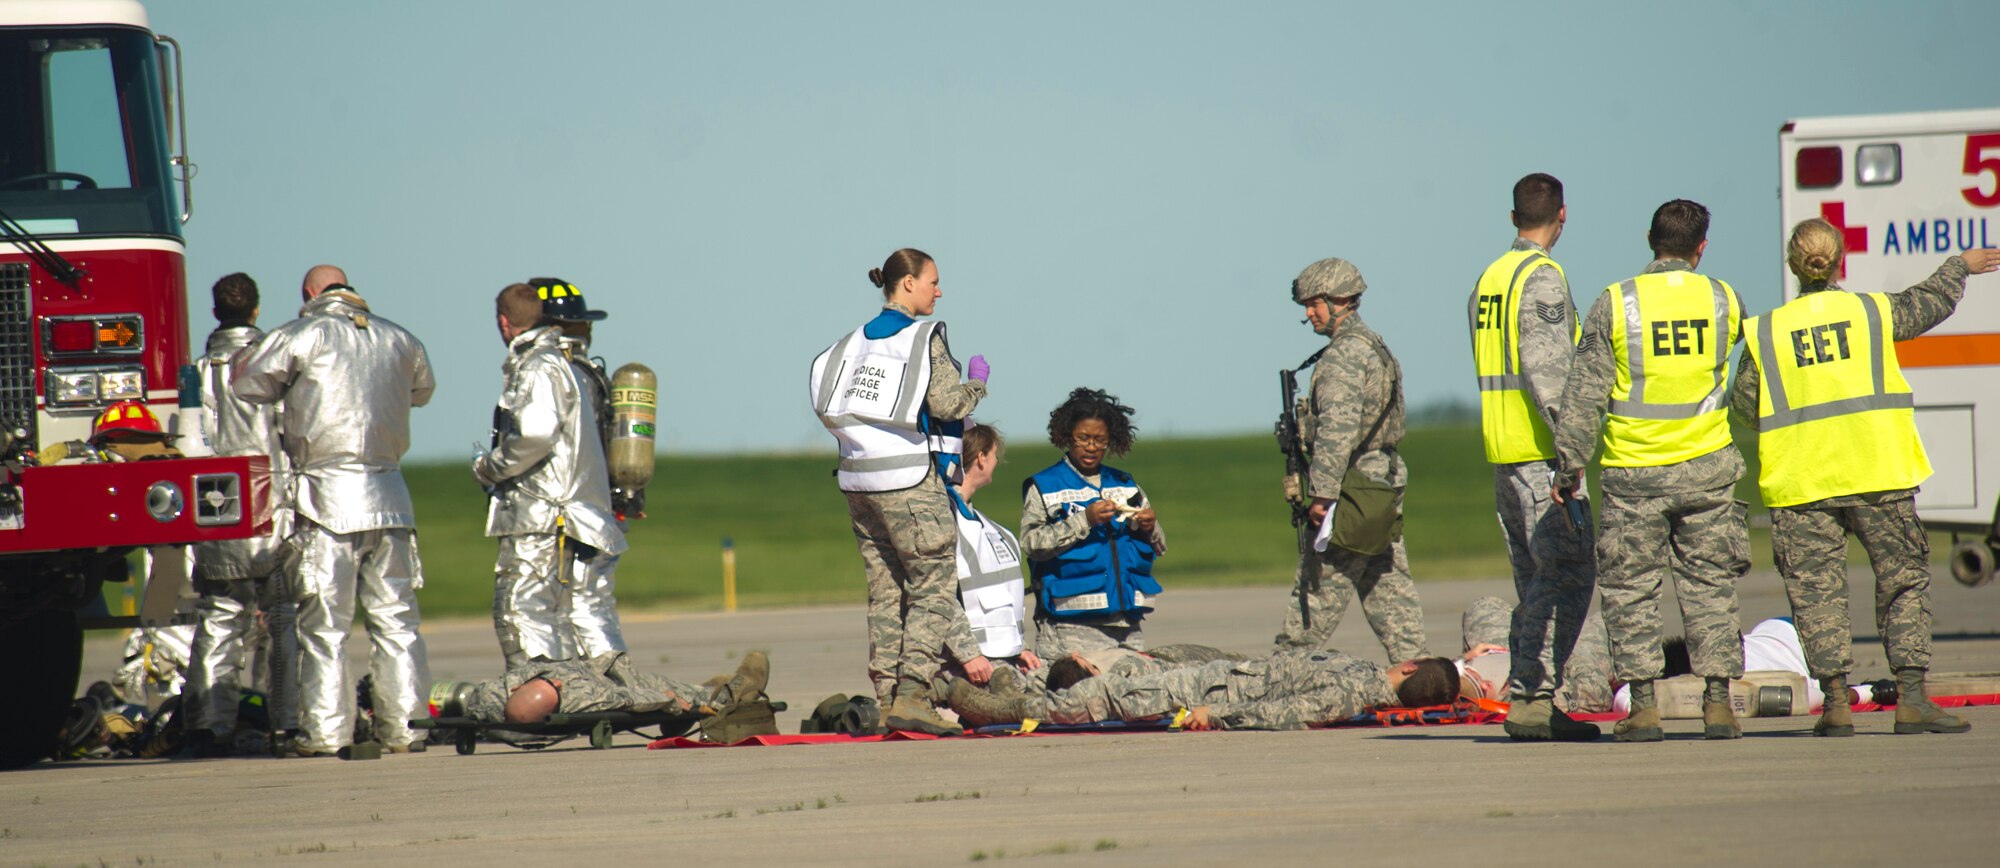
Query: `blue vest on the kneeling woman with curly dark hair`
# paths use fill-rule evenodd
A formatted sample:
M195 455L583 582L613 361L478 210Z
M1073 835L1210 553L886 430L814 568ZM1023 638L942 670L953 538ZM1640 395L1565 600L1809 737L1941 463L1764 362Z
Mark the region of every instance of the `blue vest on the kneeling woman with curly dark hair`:
M1042 492L1042 508L1050 522L1060 522L1096 500L1130 504L1138 494L1132 474L1100 466L1102 486L1092 486L1070 466L1054 466L1028 478ZM1130 528L1124 516L1092 524L1090 536L1048 560L1030 562L1036 600L1042 614L1064 618L1100 618L1126 612L1152 612L1148 600L1160 594L1152 578L1154 548L1150 534Z

